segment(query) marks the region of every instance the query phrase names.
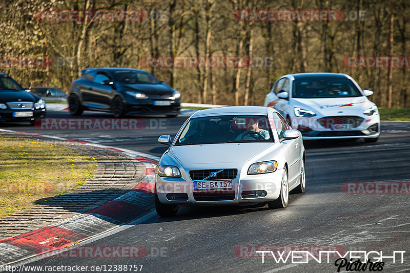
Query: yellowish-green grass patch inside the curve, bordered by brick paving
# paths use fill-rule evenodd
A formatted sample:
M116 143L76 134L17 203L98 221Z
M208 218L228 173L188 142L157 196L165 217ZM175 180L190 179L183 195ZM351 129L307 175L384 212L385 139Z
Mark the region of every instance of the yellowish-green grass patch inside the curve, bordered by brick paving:
M0 218L85 184L96 166L60 145L0 135Z

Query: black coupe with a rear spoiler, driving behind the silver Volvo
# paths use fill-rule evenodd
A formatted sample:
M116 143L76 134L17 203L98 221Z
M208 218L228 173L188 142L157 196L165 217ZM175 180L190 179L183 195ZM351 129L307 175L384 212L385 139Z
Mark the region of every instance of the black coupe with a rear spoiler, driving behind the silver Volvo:
M153 75L131 68L87 68L71 83L68 104L72 115L83 110L125 114L179 114L181 94Z

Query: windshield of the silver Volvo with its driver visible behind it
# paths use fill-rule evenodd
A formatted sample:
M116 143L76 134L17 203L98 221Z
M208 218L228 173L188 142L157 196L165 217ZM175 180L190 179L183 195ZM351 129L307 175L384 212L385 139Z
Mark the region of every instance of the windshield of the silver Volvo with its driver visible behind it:
M192 118L174 145L236 142L274 142L268 117L224 115Z

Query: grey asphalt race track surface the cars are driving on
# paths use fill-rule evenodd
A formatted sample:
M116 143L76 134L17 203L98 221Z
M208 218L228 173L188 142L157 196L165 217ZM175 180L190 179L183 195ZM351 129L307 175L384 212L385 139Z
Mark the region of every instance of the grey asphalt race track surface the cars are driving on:
M49 112L48 118L72 117L65 112ZM85 113L78 118L112 116ZM40 130L23 123L1 124L0 128L160 156L167 146L158 144L158 136L174 137L186 119L144 117L146 127L140 130ZM144 257L49 257L29 260L25 265L79 265L88 266L88 272L97 271L95 266L105 266L101 271L124 272L118 266L125 264L143 265L141 272L337 272L335 256L330 256L329 263L325 257L321 263L314 259L292 263L291 258L283 263L267 254L262 263L255 250L265 250L260 247L266 246L275 254L285 250L285 256L289 250L308 250L317 259L319 250L339 250L342 255L354 256L357 253L347 251L378 251L370 256L372 261L380 251L382 256L406 251L403 260L396 255L395 263L391 258L384 259L383 272L409 272L410 122L382 122L381 130L377 143L305 142L306 193L291 195L285 209L184 207L170 218L151 213L148 220L78 245L91 246L93 251L105 246L138 246L147 251ZM393 185L396 190L392 190ZM90 270L93 265L94 270Z

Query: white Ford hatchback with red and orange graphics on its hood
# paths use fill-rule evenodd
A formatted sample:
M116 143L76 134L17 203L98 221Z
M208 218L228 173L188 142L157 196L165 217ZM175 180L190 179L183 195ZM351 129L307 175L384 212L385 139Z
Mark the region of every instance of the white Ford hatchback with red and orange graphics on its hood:
M376 142L380 116L373 94L361 90L350 76L341 73L299 73L280 77L265 98L303 139L364 138Z

